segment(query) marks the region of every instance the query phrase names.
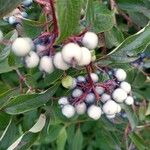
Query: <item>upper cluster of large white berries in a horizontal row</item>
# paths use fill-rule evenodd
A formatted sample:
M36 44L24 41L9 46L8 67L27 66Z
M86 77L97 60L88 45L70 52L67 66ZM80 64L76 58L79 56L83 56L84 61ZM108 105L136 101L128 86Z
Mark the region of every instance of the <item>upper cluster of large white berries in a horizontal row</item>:
M12 43L12 51L19 57L24 57L27 68L38 66L46 73L52 73L54 67L67 70L71 66L86 66L92 61L91 51L96 48L98 37L93 32L86 32L81 45L69 42L62 47L61 52L54 53L51 46L51 36L39 37L32 41L27 37L19 37ZM85 46L85 47L83 47Z

